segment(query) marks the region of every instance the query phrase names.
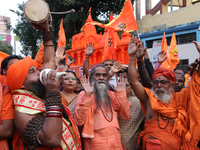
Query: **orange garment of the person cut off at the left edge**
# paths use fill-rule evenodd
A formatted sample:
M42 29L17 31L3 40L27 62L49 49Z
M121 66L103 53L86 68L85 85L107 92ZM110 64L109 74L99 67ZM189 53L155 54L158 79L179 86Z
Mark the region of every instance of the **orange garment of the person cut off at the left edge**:
M2 85L0 84L0 124L2 120L14 119L14 106L11 96L8 93L8 87L5 87L2 93ZM2 98L3 97L3 98ZM7 140L0 140L0 149L8 150Z

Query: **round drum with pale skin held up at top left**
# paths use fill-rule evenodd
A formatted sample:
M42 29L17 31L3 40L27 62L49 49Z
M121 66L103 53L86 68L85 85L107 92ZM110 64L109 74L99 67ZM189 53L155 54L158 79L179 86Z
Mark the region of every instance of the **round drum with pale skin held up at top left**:
M49 5L44 0L29 0L24 6L24 14L32 23L42 23L48 19L51 24L52 17L49 12Z

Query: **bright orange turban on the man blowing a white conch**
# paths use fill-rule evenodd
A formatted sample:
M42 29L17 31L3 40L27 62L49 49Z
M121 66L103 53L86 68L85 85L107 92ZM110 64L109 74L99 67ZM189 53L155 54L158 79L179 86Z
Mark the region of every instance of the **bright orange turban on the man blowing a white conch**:
M9 67L7 71L7 83L11 91L22 87L31 66L37 67L37 64L30 56L27 56Z

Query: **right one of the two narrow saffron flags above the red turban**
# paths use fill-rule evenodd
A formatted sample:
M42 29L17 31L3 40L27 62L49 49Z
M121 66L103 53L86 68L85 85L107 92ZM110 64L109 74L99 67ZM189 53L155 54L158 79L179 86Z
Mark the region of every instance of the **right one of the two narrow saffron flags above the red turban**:
M177 44L176 44L176 36L175 33L172 35L170 47L169 47L169 57L171 60L170 69L174 70L177 66L177 64L180 62L178 57L178 50L177 50Z

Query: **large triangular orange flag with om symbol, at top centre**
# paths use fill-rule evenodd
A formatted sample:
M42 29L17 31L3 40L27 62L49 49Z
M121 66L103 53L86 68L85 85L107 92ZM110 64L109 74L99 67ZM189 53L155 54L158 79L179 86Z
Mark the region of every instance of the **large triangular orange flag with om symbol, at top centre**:
M106 27L127 32L137 30L137 23L133 12L133 5L130 0L125 1L119 16L108 23Z

